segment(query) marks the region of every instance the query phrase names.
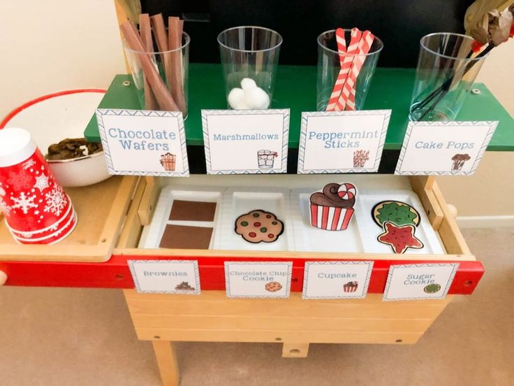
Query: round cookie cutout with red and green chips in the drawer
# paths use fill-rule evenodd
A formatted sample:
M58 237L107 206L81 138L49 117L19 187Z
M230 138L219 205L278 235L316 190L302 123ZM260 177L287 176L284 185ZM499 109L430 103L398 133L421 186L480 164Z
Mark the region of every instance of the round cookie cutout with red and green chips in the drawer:
M272 243L284 233L284 222L273 213L256 209L237 217L235 233L249 243Z

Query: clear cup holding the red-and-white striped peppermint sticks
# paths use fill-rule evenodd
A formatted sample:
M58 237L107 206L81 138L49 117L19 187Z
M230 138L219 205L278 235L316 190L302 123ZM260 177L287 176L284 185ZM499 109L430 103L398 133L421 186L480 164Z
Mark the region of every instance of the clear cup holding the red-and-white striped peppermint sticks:
M344 30L344 38L346 39L346 47L350 45L351 29ZM318 36L318 80L317 80L317 97L316 108L318 111L325 111L328 106L330 94L337 80L341 64L339 61L339 52L337 51L337 42L335 40L335 29L325 31ZM363 57L364 63L360 69L359 76L355 84L355 109L362 110L366 101L367 92L373 74L376 69L376 62L379 61L380 52L383 43L375 36L371 48L367 54L346 55L353 57Z

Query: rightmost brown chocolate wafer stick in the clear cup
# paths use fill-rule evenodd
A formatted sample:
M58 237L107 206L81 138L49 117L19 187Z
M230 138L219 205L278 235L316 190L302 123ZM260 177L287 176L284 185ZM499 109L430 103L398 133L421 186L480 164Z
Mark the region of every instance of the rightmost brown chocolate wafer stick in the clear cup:
M184 29L184 20L178 17L168 17L168 49L176 50L171 52L171 94L173 99L177 101L177 106L186 115L186 97L184 95L184 83L182 77L182 29ZM169 82L169 80L168 80Z

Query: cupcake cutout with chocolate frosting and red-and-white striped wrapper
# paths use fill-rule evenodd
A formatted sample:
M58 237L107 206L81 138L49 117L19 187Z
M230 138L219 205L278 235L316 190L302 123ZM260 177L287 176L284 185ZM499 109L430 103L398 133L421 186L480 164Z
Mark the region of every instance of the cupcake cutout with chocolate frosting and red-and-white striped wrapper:
M357 188L351 183L330 183L311 194L311 225L327 231L344 231L353 216Z

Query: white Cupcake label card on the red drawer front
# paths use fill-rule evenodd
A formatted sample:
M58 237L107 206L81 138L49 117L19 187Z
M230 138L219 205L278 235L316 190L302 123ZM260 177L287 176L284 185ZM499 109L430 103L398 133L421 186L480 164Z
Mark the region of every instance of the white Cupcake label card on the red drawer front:
M364 298L373 262L306 262L302 299Z

